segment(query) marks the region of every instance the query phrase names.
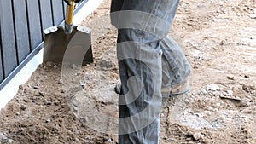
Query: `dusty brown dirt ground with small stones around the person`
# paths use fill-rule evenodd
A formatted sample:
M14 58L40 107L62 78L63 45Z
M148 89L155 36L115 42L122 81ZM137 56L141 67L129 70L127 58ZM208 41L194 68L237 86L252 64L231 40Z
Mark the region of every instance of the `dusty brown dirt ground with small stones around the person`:
M109 2L83 23L94 31L95 62L39 66L1 110L0 143L116 143L118 95L113 87L119 74L113 56L116 31L106 15ZM161 144L256 143L253 14L255 0L180 3L170 35L193 66L193 87L175 104L165 100Z

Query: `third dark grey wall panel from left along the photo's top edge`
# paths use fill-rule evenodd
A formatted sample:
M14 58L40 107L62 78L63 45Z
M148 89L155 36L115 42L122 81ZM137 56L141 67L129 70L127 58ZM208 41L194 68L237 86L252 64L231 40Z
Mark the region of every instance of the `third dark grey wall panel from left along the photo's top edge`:
M31 49L37 48L38 44L42 42L42 29L39 13L38 0L26 0L26 9L28 15L28 25L30 33Z

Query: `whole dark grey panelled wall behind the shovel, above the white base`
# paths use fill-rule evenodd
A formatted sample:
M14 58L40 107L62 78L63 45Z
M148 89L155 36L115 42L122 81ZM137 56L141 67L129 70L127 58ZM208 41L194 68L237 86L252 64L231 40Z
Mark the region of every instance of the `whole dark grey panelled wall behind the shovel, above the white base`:
M0 89L37 53L43 30L60 25L65 11L62 0L0 0Z

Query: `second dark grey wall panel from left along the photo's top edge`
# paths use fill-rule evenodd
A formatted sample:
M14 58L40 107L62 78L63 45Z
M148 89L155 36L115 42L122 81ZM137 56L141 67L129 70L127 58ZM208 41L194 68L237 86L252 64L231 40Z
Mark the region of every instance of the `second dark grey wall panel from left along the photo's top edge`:
M15 17L15 40L19 64L30 53L25 0L13 0Z

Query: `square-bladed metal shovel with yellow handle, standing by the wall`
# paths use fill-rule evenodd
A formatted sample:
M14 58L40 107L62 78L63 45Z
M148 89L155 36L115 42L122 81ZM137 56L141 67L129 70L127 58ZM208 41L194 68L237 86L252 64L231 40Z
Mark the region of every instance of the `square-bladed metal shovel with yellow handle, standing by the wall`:
M44 62L62 62L85 66L93 62L90 28L73 26L75 3L67 5L65 26L44 30Z

